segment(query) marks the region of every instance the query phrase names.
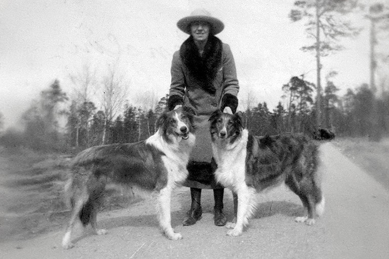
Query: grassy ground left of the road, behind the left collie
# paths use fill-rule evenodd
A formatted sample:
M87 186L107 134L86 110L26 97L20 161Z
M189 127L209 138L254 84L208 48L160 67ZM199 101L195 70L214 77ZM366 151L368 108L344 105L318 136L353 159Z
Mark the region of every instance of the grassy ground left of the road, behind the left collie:
M5 197L0 200L3 210L0 210L0 242L63 229L70 217L63 190L70 174L71 157L29 149L7 152L1 148L0 156L7 159L0 182ZM125 208L141 200L132 194L108 189L101 210Z

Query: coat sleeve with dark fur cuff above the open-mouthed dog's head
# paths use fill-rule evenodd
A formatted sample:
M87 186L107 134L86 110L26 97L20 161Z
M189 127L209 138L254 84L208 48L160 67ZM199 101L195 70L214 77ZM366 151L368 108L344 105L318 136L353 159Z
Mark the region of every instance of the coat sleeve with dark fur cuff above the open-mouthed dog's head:
M185 77L182 71L181 59L179 52L175 52L173 55L172 66L170 69L172 81L170 84L168 109L171 111L176 105L184 104L185 95Z

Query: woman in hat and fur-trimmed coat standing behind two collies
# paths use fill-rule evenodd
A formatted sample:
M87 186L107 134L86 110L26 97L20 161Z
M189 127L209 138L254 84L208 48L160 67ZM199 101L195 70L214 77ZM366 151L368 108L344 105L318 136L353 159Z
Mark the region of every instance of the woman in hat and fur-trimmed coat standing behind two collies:
M237 109L239 84L234 57L229 46L215 37L224 24L206 10L193 11L180 19L177 26L190 36L173 55L168 108L187 105L197 113L196 147L187 166L189 177L184 183L190 187L191 207L183 225L193 225L201 219L201 190L213 189L214 223L224 226L224 187L218 185L213 176L216 165L212 161L208 119L218 109L228 113L235 113Z

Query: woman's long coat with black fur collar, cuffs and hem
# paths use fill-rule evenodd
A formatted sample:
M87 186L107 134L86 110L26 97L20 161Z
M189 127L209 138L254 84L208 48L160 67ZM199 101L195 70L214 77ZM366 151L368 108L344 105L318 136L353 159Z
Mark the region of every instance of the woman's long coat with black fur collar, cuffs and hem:
M201 189L220 188L209 168L212 159L209 117L216 110L238 106L239 84L234 57L227 44L210 35L203 55L190 36L173 55L168 108L190 106L196 111L196 147L188 164L189 177L184 186ZM208 168L208 169L207 169Z

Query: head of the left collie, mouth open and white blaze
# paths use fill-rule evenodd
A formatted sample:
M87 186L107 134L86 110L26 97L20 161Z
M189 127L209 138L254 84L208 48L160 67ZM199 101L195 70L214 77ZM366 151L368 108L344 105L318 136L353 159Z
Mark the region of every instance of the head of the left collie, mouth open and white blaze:
M188 139L189 133L194 131L195 115L195 111L186 106L163 113L157 121L157 126L165 141L170 142L171 138L177 139L178 142Z

